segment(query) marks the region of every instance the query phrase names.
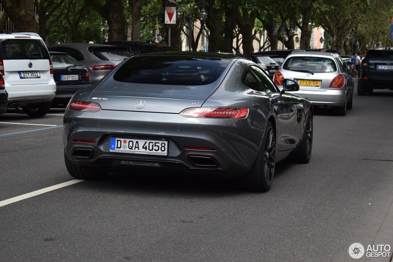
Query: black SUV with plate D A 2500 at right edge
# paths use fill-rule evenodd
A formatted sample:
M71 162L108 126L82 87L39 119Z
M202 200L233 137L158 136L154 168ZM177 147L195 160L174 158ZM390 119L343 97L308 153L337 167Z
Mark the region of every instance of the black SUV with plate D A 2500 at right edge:
M393 90L393 48L370 49L363 58L358 79L358 95L374 89Z

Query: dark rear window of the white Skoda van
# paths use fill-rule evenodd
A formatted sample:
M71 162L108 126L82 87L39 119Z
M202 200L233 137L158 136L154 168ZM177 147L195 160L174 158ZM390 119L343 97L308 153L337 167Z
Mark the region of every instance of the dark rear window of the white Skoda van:
M41 39L0 39L3 60L50 59Z

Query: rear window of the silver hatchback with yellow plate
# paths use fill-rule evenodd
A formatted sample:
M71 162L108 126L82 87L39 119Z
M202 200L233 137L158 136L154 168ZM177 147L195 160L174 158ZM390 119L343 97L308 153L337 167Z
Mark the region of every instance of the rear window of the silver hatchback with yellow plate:
M306 70L313 73L336 72L337 67L333 59L327 57L293 56L288 57L282 66L285 70Z

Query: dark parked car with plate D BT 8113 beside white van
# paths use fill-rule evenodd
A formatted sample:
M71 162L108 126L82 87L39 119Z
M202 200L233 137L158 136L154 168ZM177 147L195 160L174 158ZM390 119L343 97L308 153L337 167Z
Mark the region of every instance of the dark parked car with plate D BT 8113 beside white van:
M52 106L67 105L75 92L90 85L90 74L81 63L61 52L49 52L53 65L56 95Z

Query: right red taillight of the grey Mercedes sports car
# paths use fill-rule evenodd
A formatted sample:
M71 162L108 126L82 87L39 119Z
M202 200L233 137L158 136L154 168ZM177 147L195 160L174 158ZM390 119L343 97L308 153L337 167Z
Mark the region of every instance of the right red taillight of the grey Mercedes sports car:
M180 114L198 118L246 118L248 108L193 107L184 109Z

